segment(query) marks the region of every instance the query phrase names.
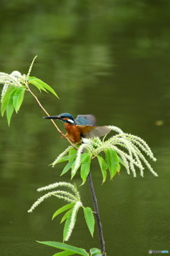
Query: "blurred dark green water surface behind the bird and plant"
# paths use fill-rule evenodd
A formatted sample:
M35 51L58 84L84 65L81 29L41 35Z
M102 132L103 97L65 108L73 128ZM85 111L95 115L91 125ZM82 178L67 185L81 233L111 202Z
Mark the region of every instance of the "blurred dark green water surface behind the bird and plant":
M147 255L169 250L170 166L170 2L137 1L2 1L0 70L27 73L51 85L57 100L34 90L51 114L95 114L98 125L113 124L145 139L157 157L151 163L158 178L145 169L142 178L120 176L101 186L94 161L91 173L101 211L108 255ZM52 255L35 240L62 241L60 218L52 213L63 202L50 198L27 213L42 194L36 189L56 181L62 164L50 164L67 146L30 95L11 127L0 119L1 255ZM62 129L63 124L59 124ZM74 182L81 180L77 175ZM88 184L79 188L91 206ZM78 216L69 244L99 247Z

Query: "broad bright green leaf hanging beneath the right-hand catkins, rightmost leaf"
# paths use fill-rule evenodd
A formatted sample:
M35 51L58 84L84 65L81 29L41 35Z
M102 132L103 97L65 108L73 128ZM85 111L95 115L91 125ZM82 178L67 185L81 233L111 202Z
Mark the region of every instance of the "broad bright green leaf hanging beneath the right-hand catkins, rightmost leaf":
M111 179L115 176L116 172L118 171L118 155L115 150L106 149L106 161L108 164L108 170L111 175Z

